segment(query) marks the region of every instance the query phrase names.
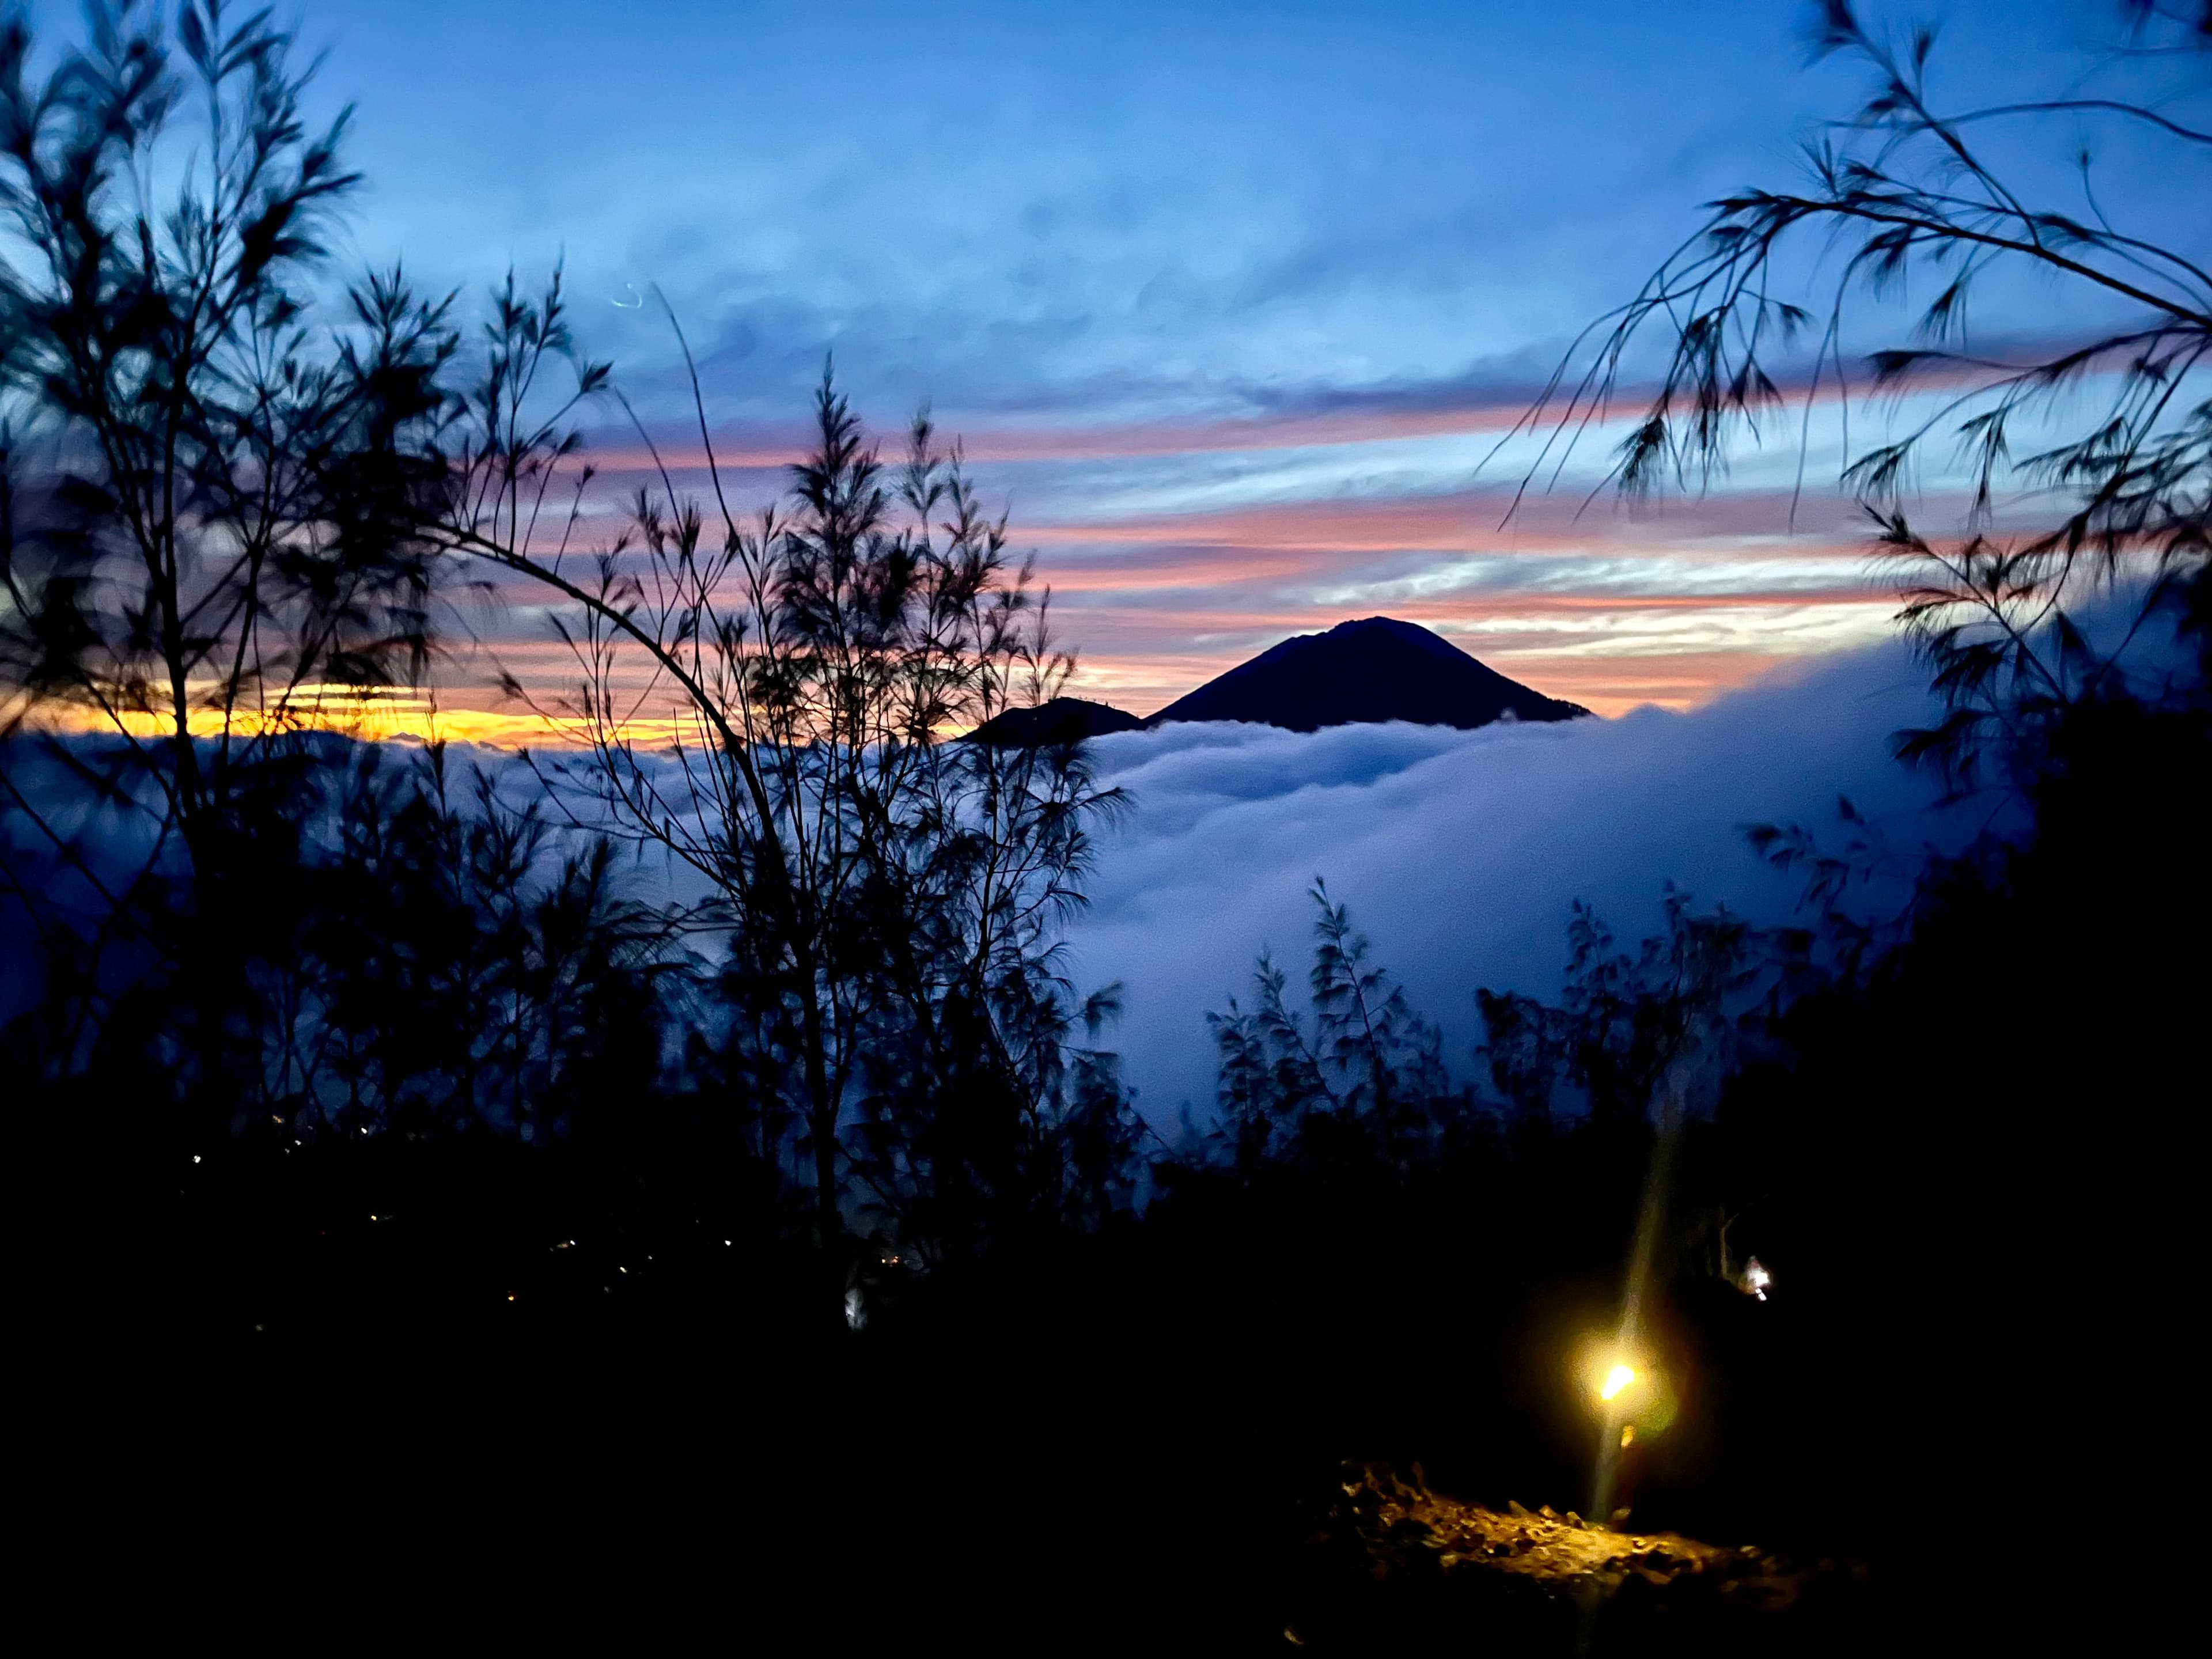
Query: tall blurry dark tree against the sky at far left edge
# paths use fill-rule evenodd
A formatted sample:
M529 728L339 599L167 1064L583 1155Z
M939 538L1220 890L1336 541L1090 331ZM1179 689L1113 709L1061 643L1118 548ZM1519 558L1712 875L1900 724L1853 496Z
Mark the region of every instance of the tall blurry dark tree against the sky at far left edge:
M299 732L431 650L451 352L398 272L325 321L345 122L305 128L265 11L175 15L95 4L44 75L27 20L0 22L9 880L46 945L44 1064L97 1042L126 949L177 993L164 1097L257 1064L223 1004L312 794ZM42 741L55 719L104 741ZM33 799L27 768L73 787Z

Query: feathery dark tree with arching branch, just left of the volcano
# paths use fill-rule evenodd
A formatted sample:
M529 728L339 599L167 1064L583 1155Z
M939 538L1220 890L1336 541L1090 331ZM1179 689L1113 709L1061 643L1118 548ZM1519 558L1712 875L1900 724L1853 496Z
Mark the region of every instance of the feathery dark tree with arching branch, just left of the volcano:
M557 283L538 303L509 285L438 529L573 604L557 626L575 690L544 712L593 765L560 783L712 891L692 925L728 938L723 1062L770 1141L790 1135L810 1166L825 1248L843 1232L847 1150L869 1206L922 1254L989 1210L1044 1201L1062 1128L1104 1110L1102 1051L1068 1068L1084 1015L1055 962L1091 825L1121 796L1082 745L949 739L1073 672L1048 593L1011 566L1004 520L927 418L889 469L827 374L785 507L737 518L695 396L710 500L664 471L630 531L571 575L591 476L571 467L566 420L606 376L577 363L542 394L564 352ZM542 553L555 478L573 493ZM1115 1110L1106 1139L1126 1144Z

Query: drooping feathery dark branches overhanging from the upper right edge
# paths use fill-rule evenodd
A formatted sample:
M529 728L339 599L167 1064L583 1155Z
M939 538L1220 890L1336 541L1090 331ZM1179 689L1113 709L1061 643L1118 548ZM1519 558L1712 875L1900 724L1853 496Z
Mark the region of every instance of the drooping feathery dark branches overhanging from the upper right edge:
M2170 49L2172 91L2201 102L2212 69L2203 18L2157 4L2128 13L2137 46ZM1900 734L1900 754L1964 787L1993 752L2033 743L2057 710L2128 686L2141 672L2139 633L2212 553L2212 274L2183 241L2124 230L2106 215L2093 148L2077 153L2077 199L2048 201L2013 184L1978 135L2057 119L2126 128L2161 146L2159 164L2177 179L2212 188L2212 131L2152 102L2079 88L1947 108L1929 86L1936 31L1893 42L1849 0L1823 0L1812 44L1871 71L1865 104L1807 146L1798 188L1714 201L1644 290L1575 343L1517 431L1548 429L1546 458L1571 449L1610 416L1632 347L1650 332L1668 361L1613 460L1610 482L1628 495L1708 482L1739 436L1759 436L1783 411L1776 361L1807 336L1807 422L1823 394L1891 407L1924 394L1933 407L1849 453L1843 482L1876 524L1900 622L1947 701L1933 728ZM1790 263L1801 243L1814 243L1812 257L1825 261L1816 270L1832 272L1818 294ZM2037 274L2093 312L2119 307L2124 321L2013 352L1978 349L1975 294L2013 274ZM1847 303L1902 303L1916 276L1938 292L1918 307L1913 341L1874 352L1856 378L1845 358ZM1918 473L1942 442L1969 473L1955 535L1911 518ZM2004 531L1995 515L2015 495L2033 526ZM2053 513L2046 495L2064 504ZM2081 606L2115 584L2141 584L2135 626L2099 637ZM2020 779L2002 765L2000 774Z

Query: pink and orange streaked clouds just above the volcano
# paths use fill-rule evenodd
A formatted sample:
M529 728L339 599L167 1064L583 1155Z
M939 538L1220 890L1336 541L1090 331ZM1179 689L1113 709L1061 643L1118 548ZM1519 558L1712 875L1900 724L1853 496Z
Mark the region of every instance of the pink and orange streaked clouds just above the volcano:
M781 456L734 453L743 465L723 473L734 502L783 487ZM639 456L597 456L611 491L657 482L650 458L648 478L637 476ZM1015 522L1053 586L1062 637L1082 650L1077 688L1135 712L1287 635L1378 613L1431 626L1500 672L1604 714L1641 701L1688 708L1781 661L1878 639L1893 611L1856 509L1834 495L1736 489L1630 515L1564 495L1515 509L1502 487L1301 495L1312 473L1292 467L1230 491L1285 491L1279 500L1157 509L1164 491L1190 493L1175 471L1186 460L1121 471L1093 495L1044 480L1042 509ZM664 465L679 489L703 487L697 456L675 442ZM1018 482L1020 469L993 478ZM580 540L604 544L615 529L608 518ZM471 617L484 650L524 684L557 684L568 666L538 595L511 577L491 591ZM456 697L469 699L460 681Z

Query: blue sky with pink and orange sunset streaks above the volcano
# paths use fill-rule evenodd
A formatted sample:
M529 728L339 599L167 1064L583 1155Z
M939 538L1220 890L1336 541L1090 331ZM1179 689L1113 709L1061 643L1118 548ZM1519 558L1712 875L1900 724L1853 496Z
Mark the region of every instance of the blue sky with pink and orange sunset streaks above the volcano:
M1396 615L1601 714L1679 710L1889 628L1829 409L1803 500L1770 436L1701 500L1590 502L1599 431L1509 520L1526 451L1493 453L1701 201L1792 181L1812 124L1851 108L1865 73L1809 64L1798 0L292 15L319 111L354 106L347 261L465 296L560 261L586 347L681 469L666 296L754 504L827 358L894 445L927 403L1037 553L1082 695L1150 712L1287 635ZM1940 22L1940 95L2115 73L2086 51L2104 0L1869 15ZM2088 135L2062 126L1993 144L2053 181ZM2097 142L2121 144L2117 217L2203 241L2201 181ZM1997 292L1984 321L2064 332L2059 299ZM608 484L641 482L602 427ZM449 710L498 708L493 666L562 677L531 595L467 624L484 648L447 668Z

